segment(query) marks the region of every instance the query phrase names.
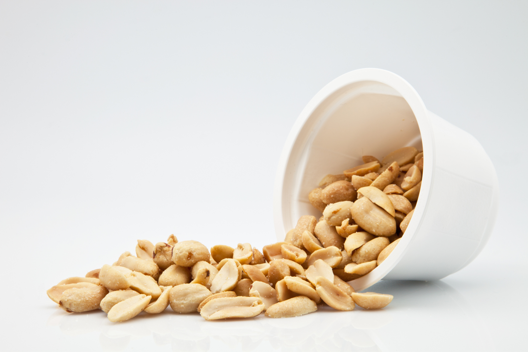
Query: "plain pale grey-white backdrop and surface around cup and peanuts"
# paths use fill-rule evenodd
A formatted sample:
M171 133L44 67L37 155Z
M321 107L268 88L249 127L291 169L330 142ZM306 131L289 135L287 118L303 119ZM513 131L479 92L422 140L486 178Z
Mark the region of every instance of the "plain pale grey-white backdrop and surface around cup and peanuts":
M520 1L1 2L0 349L528 349L527 16ZM498 220L468 267L376 284L384 310L279 320L116 325L46 297L137 239L274 242L291 126L365 67L408 80L492 158Z

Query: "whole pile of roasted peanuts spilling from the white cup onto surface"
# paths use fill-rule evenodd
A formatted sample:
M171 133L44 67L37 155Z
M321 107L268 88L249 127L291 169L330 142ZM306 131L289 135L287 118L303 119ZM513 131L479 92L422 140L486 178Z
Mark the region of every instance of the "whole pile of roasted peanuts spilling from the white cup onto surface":
M270 318L296 317L323 303L337 310L383 308L390 294L357 293L346 281L372 271L398 244L420 192L422 156L401 148L381 162L365 156L364 165L325 176L309 195L323 212L319 222L301 216L284 242L262 252L249 243L209 251L174 235L156 245L138 240L136 256L125 252L112 265L62 280L48 296L68 312L101 309L112 322L169 305L206 320L262 311Z

